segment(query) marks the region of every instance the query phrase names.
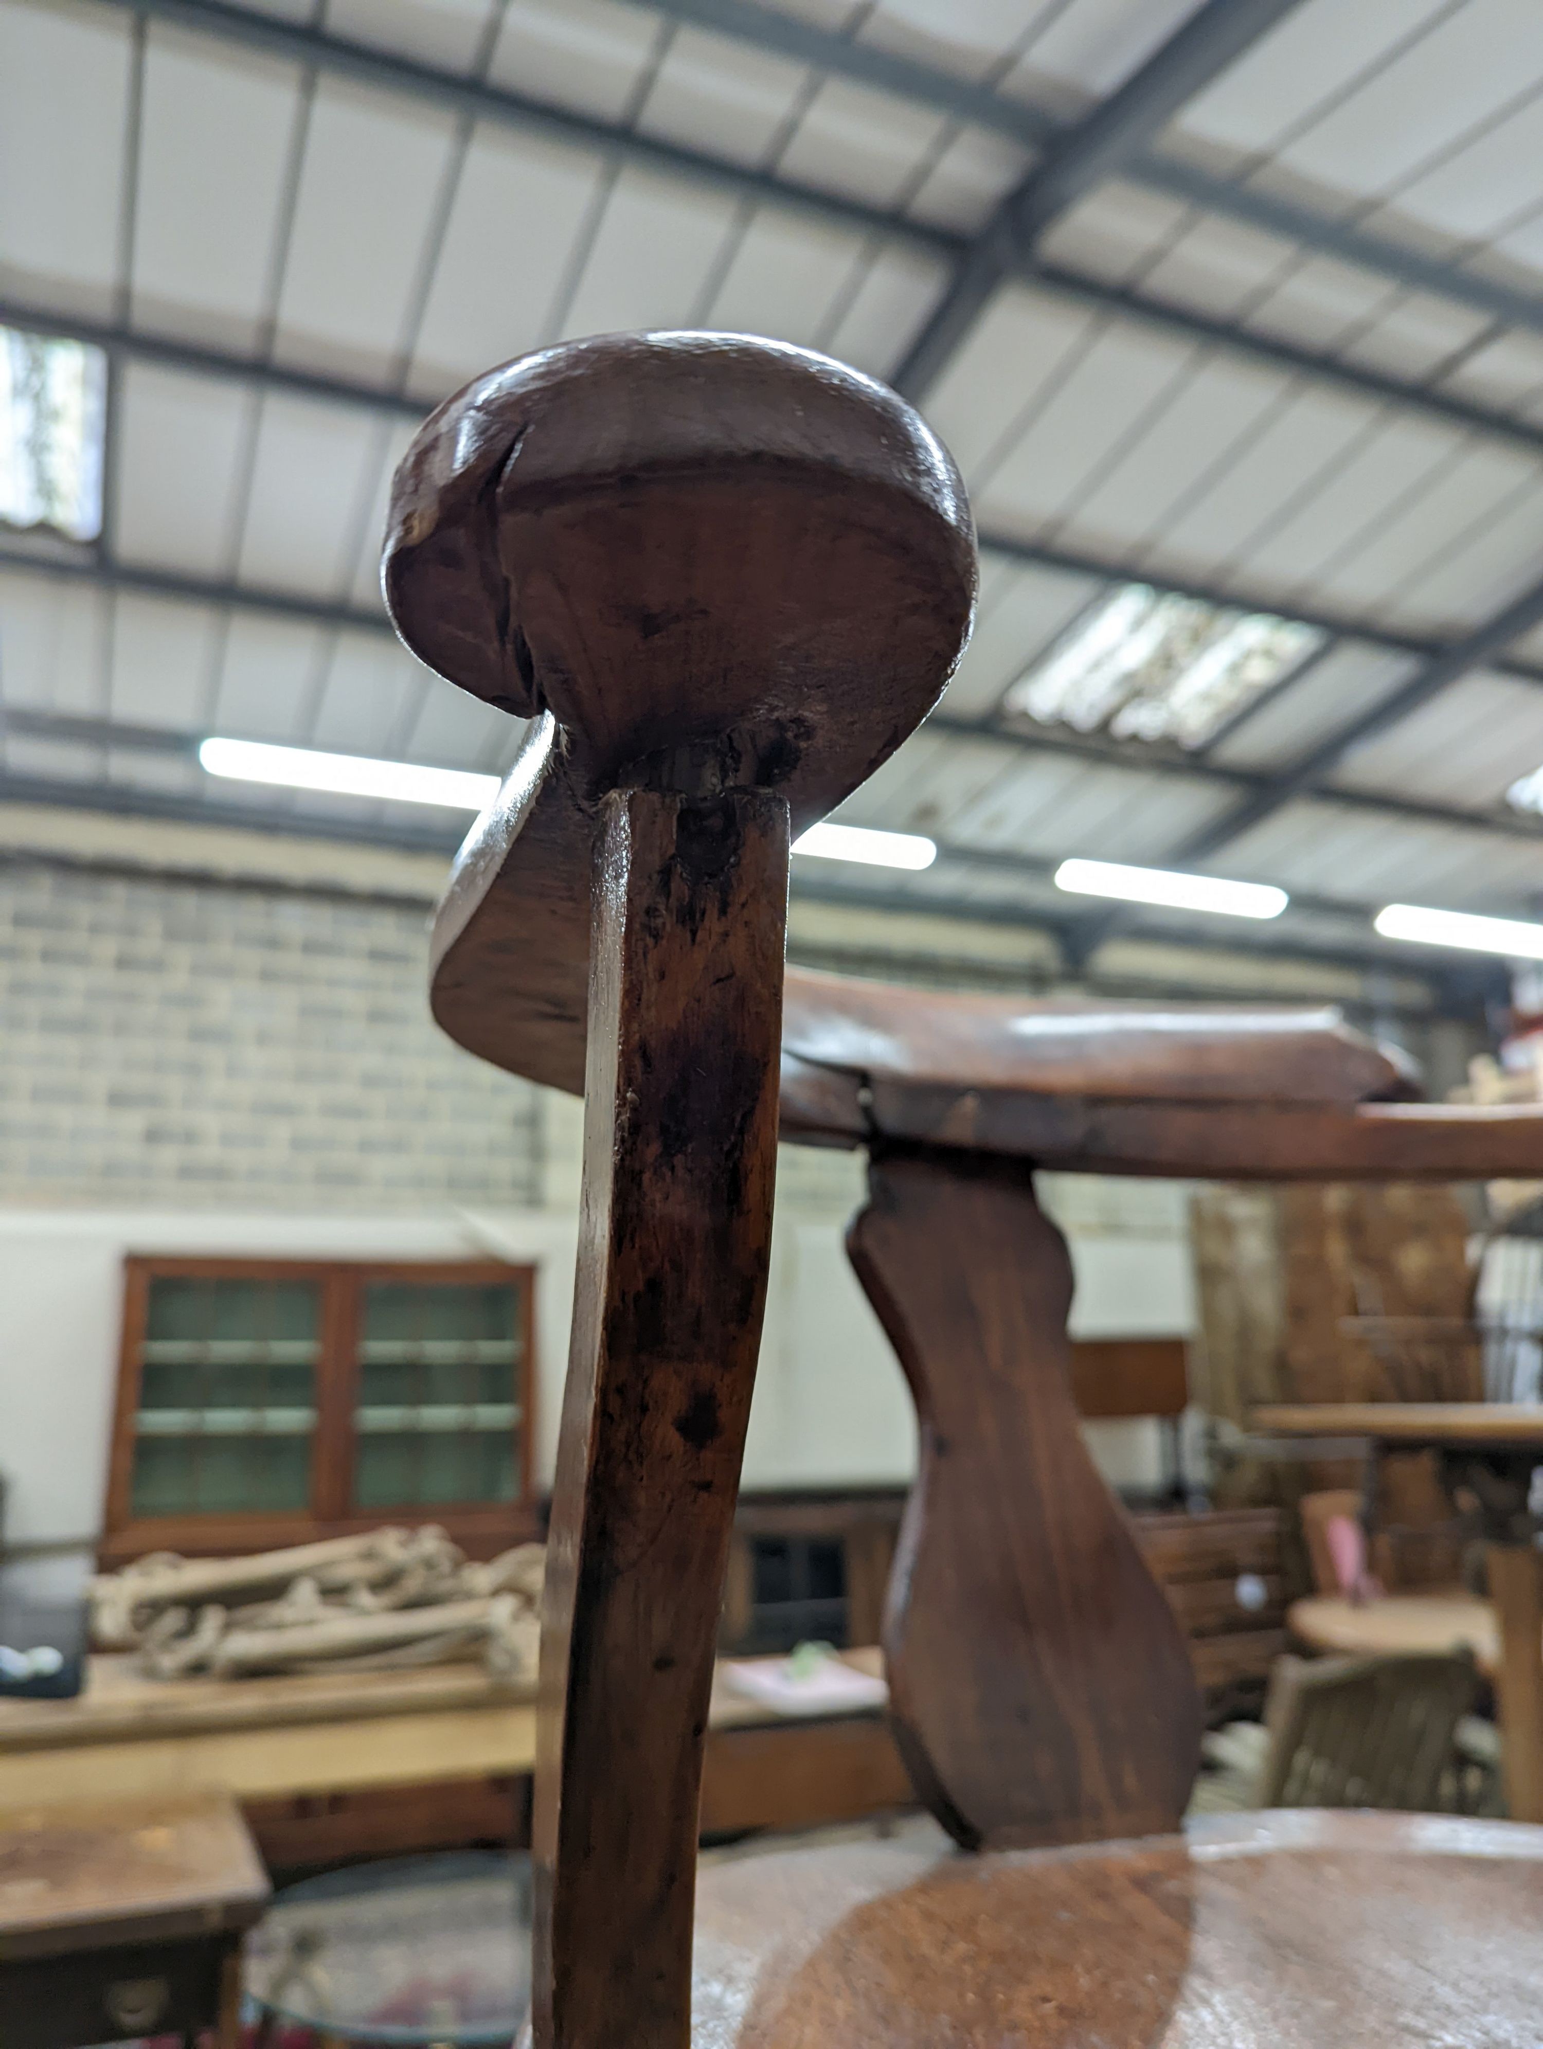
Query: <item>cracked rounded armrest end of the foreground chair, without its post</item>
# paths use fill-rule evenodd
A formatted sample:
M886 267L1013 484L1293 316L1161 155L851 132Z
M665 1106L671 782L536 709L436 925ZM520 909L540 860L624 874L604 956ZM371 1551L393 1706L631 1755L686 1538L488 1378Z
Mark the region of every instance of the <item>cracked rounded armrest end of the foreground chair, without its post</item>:
M744 336L600 336L447 400L398 471L408 645L537 723L434 928L434 1016L578 1090L588 846L617 783L775 787L824 818L936 703L975 547L916 414Z

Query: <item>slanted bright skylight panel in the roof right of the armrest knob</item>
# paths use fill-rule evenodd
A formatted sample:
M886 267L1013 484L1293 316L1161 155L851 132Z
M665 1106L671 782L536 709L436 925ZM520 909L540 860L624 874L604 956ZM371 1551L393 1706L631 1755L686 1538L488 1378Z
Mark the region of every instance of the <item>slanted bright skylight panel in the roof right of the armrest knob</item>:
M1025 670L1002 709L1080 734L1199 748L1322 641L1295 619L1121 584Z

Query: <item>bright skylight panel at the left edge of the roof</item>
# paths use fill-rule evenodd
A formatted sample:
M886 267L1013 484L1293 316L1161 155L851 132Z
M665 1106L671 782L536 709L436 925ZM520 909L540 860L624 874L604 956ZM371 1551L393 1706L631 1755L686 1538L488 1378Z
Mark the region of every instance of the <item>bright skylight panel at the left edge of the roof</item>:
M107 354L68 336L0 328L0 520L102 531Z

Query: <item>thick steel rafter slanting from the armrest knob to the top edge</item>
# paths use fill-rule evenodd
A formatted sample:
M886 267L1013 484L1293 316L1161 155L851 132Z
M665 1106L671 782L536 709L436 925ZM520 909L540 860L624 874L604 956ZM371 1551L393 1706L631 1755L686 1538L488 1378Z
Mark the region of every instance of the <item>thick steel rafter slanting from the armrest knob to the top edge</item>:
M891 383L920 398L943 373L998 285L1033 262L1041 236L1123 170L1213 78L1301 0L1205 0L1119 90L1057 135L996 207Z

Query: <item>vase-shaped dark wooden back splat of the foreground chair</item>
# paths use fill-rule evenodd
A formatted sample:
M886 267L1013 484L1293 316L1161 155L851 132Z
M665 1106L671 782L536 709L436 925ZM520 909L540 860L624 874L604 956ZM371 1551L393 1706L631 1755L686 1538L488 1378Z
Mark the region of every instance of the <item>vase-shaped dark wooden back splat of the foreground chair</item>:
M922 1426L885 1615L918 1795L967 1848L1176 1828L1199 1692L1082 1442L1072 1264L1031 1170L875 1154L846 1244Z

